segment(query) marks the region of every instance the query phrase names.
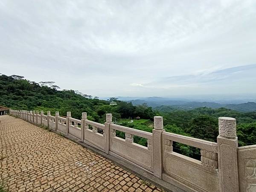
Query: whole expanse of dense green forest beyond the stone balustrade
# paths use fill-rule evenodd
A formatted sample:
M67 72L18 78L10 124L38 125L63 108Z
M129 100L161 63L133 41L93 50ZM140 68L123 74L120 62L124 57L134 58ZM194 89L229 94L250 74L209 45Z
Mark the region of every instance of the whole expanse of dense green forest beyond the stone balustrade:
M169 106L153 110L145 103L134 106L131 102L110 98L107 101L80 93L76 90L58 90L52 81L34 82L22 76L0 76L0 105L12 109L43 110L45 113L59 111L65 116L71 111L74 118L81 119L81 113L87 112L88 119L103 123L105 114L112 113L115 122L121 125L152 132L154 116L163 116L166 131L216 142L218 136L218 117L229 116L237 120L237 136L239 145L256 144L256 112L239 112L227 108L195 108L180 110ZM110 105L110 102L117 105ZM125 122L122 119L134 119L140 116L147 119L141 123ZM122 132L118 137L124 138ZM134 136L134 142L146 146L147 141ZM200 150L180 143L173 144L174 151L189 157L199 158Z

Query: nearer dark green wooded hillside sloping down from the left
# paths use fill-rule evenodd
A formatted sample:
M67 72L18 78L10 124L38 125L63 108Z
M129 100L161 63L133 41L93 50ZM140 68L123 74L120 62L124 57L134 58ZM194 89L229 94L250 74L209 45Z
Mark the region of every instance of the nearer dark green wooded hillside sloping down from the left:
M134 118L153 119L152 108L146 105L133 106L131 103L110 98L109 101L92 98L74 90L57 90L54 82L34 82L23 79L22 76L0 76L0 105L12 109L43 110L45 113L59 111L66 116L71 111L74 118L81 118L82 112L87 112L88 119L97 122L105 121L106 113L113 113L117 119ZM109 105L116 101L118 105Z

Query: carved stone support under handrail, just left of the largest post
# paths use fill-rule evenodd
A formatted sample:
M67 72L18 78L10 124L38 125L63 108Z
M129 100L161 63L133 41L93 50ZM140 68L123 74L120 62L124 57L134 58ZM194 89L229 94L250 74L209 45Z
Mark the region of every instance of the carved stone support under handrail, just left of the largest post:
M212 169L218 169L218 154L201 149L201 163L202 165Z

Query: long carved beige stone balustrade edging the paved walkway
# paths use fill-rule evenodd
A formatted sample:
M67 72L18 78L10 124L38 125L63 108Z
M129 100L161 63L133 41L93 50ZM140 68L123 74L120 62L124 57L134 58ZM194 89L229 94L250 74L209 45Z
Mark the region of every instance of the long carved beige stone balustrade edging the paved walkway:
M149 179L160 179L174 192L256 192L256 145L238 147L236 119L219 118L217 143L163 129L163 117L154 117L152 133L113 124L106 114L105 124L87 119L66 117L58 111L10 110L12 116L66 135L92 146L111 157L118 158L146 172ZM125 133L125 139L116 137L116 131ZM147 140L147 147L134 143L134 136ZM173 142L201 150L201 161L173 151ZM134 170L136 172L136 170ZM151 175L151 176L150 176Z

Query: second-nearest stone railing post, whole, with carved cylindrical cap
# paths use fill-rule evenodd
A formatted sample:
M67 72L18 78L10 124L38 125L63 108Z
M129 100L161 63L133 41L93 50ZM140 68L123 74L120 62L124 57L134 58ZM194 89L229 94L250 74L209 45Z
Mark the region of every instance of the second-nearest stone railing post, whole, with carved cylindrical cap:
M162 132L163 129L163 117L154 116L154 129L153 133L153 164L154 164L154 175L162 178Z

